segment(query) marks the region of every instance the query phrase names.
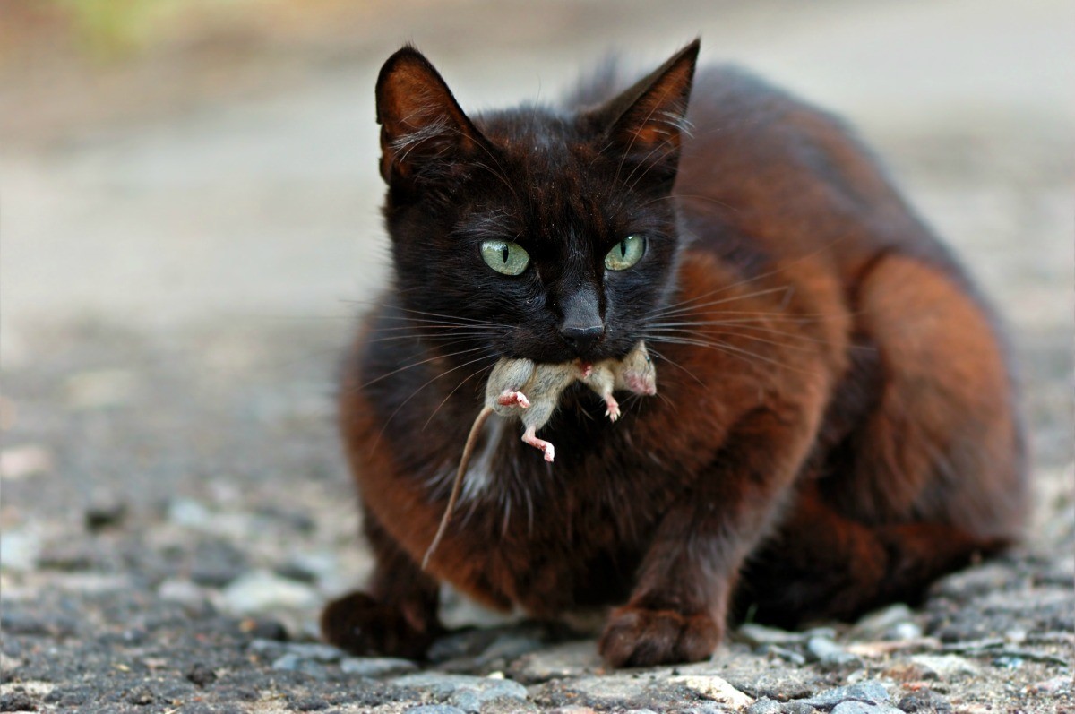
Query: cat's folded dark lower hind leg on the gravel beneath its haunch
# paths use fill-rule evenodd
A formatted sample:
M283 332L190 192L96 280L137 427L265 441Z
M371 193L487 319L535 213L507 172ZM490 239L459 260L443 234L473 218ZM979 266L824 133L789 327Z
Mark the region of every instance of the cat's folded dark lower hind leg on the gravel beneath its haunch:
M811 484L744 570L741 612L796 627L854 619L888 602L916 602L936 577L1007 544L937 523L868 526L837 513Z

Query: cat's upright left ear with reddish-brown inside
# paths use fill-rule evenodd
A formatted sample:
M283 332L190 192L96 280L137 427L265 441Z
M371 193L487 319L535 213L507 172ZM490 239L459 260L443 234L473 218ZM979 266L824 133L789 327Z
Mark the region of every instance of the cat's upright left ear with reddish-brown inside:
M438 71L410 45L381 68L376 99L381 175L388 183L422 163L462 158L484 141Z

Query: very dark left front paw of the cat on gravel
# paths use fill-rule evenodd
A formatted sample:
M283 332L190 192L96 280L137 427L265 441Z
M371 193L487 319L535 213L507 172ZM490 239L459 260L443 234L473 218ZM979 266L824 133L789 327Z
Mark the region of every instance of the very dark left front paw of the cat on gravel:
M415 622L366 592L345 595L321 612L321 637L355 655L420 659L441 631L435 622Z

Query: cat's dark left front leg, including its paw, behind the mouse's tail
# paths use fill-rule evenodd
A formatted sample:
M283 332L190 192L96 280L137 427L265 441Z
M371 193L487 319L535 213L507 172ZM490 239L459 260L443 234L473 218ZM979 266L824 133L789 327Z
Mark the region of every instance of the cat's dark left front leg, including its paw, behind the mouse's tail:
M355 591L321 612L321 637L357 655L418 659L441 632L440 586L367 511L364 530L376 566L369 592Z

